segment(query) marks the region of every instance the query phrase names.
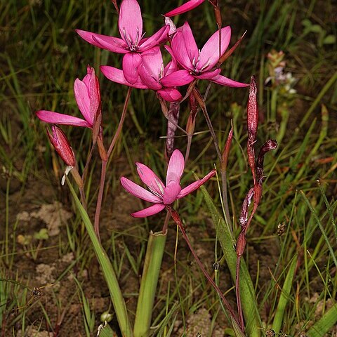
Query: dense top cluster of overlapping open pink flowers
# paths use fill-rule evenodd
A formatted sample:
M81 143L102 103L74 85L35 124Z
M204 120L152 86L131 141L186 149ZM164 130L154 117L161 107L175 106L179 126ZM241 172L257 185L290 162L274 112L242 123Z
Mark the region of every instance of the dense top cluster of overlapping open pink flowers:
M247 86L220 75L221 70L216 67L230 44L229 26L215 32L201 50L188 22L176 28L166 18L166 25L158 32L151 37L143 37L143 19L138 2L123 0L118 27L120 38L77 29L79 36L89 44L124 54L122 69L107 65L100 67L110 81L133 88L152 89L169 102L182 98L176 87L190 84L195 79L208 79L223 86ZM171 61L164 65L159 45L166 41L171 44L171 47L164 46L171 55Z

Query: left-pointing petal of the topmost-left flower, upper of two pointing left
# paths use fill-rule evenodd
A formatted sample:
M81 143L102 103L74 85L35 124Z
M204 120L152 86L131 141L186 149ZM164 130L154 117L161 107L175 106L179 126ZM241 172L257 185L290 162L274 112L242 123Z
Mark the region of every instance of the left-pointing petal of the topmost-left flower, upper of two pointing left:
M77 34L87 41L89 44L93 44L98 48L107 49L114 53L125 54L128 53L127 44L117 37L108 37L107 35L96 34L92 32L86 32L85 30L76 29Z

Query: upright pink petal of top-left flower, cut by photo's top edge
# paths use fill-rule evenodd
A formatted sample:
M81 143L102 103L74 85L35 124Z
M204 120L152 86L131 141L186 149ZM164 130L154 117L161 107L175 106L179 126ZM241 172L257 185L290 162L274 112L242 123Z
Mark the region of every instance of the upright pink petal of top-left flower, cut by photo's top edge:
M143 35L143 19L136 0L123 0L119 8L119 33L128 46L138 46Z

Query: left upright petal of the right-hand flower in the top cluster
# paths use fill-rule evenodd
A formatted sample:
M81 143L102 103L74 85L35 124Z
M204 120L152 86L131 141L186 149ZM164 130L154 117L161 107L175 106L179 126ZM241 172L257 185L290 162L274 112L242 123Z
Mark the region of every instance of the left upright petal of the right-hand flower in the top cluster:
M194 70L194 65L199 58L199 50L188 22L185 22L182 29L176 32L171 46L178 63L187 70Z

